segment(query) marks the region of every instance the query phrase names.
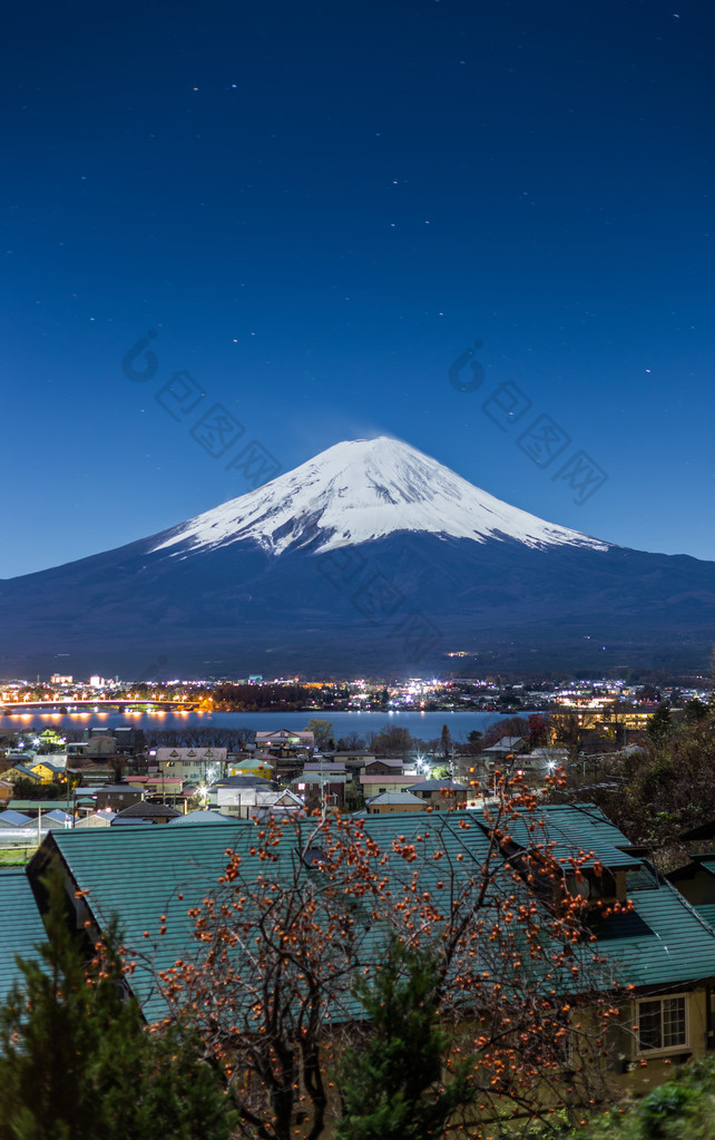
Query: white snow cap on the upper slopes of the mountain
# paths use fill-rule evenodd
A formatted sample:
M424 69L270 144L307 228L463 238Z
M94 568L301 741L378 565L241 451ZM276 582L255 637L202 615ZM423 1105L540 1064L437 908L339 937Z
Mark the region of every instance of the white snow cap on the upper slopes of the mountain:
M516 539L526 546L608 549L577 530L502 503L421 451L380 437L336 443L272 482L166 531L154 549L191 553L253 540L271 554L314 544L317 552L396 531ZM181 552L186 553L186 546Z

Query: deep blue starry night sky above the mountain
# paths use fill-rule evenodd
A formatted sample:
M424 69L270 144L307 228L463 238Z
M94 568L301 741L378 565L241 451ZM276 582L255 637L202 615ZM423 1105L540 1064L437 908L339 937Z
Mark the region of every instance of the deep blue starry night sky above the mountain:
M714 32L692 0L7 11L0 577L244 494L253 440L288 470L378 433L715 559ZM213 458L216 404L245 432Z

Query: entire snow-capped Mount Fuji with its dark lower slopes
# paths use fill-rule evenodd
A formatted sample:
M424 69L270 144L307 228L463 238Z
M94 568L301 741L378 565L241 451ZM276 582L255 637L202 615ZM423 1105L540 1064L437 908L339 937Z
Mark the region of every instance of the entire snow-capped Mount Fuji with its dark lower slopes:
M5 676L697 669L714 640L715 563L544 522L385 437L0 583Z

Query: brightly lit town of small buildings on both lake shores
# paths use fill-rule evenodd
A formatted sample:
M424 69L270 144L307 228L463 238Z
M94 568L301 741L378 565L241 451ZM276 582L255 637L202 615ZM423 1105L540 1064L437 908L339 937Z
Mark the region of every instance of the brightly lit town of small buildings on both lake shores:
M705 708L709 678L690 684L632 683L623 678L558 684L413 678L301 683L298 678L245 683L147 684L77 682L55 675L49 685L5 683L0 692L0 845L56 826L124 825L211 811L248 819L320 811L393 813L475 808L494 791L494 773L519 772L539 788L554 767L572 781L593 782L614 757L638 751L648 725ZM91 705L96 700L98 703ZM124 702L132 702L124 705ZM107 727L18 731L18 707L51 705L106 716L107 703L126 720ZM88 703L89 702L89 703ZM135 702L135 703L134 703ZM351 710L490 711L504 714L484 733L453 739L449 717L439 738L422 740L387 720L367 739L339 736L327 716L307 716L303 731L278 727L220 730L187 725L162 731L161 707L187 712L263 709L337 714ZM156 712L151 727L138 714ZM22 725L24 714L19 717ZM71 719L71 717L69 717ZM71 723L75 723L72 722ZM610 779L614 779L613 776ZM165 814L157 816L158 809ZM31 846L26 844L25 846Z

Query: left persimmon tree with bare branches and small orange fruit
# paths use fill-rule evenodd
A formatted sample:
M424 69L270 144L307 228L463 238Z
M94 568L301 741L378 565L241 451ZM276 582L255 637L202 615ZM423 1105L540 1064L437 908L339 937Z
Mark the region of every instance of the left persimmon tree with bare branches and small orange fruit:
M230 1077L247 1137L322 1134L336 1043L384 888L361 825L248 824L213 897L196 907L204 951L162 974L172 1015L190 1017Z

